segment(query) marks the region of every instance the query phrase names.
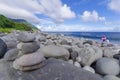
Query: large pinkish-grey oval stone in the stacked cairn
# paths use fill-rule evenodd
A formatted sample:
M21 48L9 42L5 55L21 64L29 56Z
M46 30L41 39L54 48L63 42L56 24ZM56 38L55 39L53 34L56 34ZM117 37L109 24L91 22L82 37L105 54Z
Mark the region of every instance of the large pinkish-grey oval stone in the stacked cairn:
M45 60L44 55L41 52L35 52L32 54L25 54L13 62L13 67L15 69L18 69L19 66L22 66L22 67L32 66L32 65L39 64L44 60Z

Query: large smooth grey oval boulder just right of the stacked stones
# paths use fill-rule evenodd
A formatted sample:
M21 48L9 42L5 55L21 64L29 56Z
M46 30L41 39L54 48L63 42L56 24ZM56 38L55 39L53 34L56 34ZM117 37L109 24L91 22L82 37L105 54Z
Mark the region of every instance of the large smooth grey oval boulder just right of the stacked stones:
M44 53L45 57L54 57L68 60L70 56L67 49L56 45L42 47L40 48L40 51Z

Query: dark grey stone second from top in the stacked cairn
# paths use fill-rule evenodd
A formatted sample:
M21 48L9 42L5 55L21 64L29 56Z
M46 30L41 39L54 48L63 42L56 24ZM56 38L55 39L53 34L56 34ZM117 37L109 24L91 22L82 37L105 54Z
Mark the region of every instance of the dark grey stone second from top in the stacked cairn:
M33 53L37 51L40 46L37 42L29 42L29 43L19 43L17 48L21 50L22 54Z

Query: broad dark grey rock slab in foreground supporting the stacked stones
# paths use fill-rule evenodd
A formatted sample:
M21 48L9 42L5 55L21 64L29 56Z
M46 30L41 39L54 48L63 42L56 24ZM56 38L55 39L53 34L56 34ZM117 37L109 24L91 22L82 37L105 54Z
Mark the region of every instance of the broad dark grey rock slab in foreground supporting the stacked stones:
M58 59L48 59L44 67L29 72L17 71L11 64L0 61L0 80L103 80L96 74Z

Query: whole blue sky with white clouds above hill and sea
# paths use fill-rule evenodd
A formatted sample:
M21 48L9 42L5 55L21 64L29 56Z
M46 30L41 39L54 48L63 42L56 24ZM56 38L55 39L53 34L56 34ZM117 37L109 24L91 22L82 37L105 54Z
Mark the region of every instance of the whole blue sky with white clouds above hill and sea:
M120 0L0 0L0 14L41 31L120 32Z

